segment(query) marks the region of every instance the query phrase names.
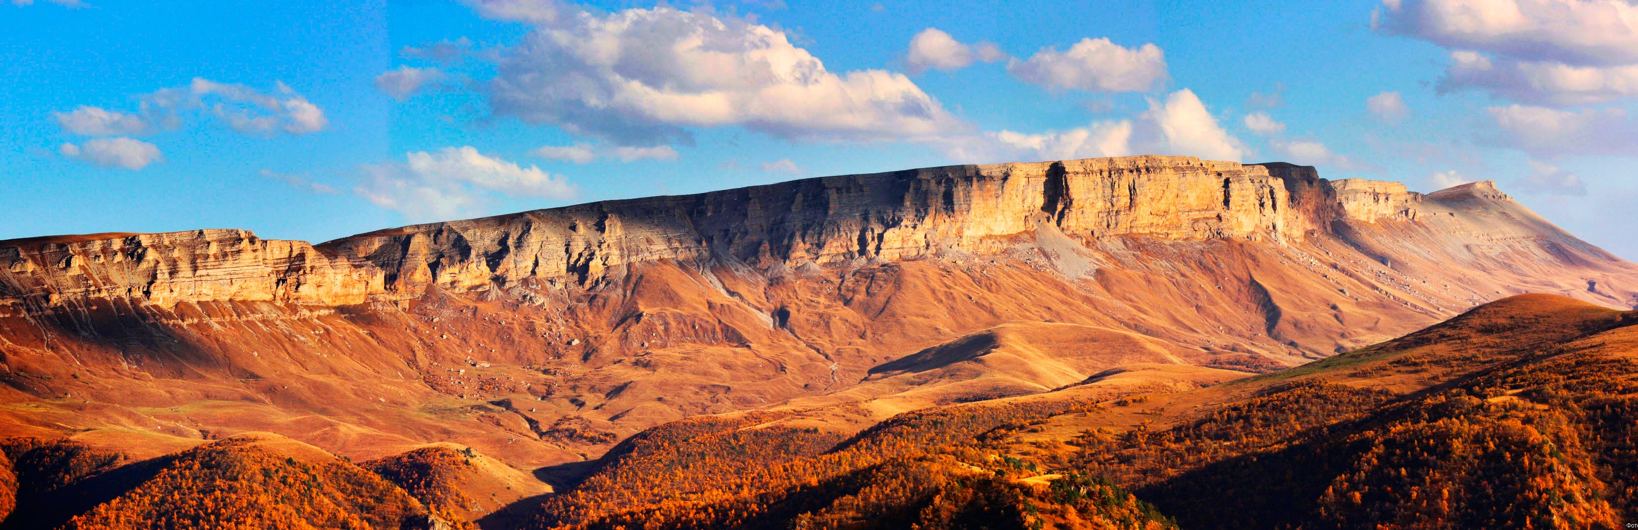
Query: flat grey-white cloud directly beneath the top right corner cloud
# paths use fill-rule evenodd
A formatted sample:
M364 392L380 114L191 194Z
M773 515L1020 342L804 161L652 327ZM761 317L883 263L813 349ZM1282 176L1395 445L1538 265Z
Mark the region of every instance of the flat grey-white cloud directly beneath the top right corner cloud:
M1638 97L1638 65L1587 67L1456 51L1450 54L1438 90L1450 93L1463 88L1535 105L1607 103Z

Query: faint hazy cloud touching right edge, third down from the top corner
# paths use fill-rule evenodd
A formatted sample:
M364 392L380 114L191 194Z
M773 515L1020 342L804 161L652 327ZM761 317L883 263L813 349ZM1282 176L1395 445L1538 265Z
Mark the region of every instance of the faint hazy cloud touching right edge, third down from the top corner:
M1638 121L1623 108L1556 110L1491 106L1494 131L1481 141L1522 149L1536 157L1563 154L1631 155L1638 152Z

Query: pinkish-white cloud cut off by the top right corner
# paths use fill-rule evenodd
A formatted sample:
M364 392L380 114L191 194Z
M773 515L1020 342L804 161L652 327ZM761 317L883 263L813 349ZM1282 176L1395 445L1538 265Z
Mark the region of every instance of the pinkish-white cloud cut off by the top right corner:
M1382 0L1373 26L1448 49L1579 65L1638 64L1625 0Z

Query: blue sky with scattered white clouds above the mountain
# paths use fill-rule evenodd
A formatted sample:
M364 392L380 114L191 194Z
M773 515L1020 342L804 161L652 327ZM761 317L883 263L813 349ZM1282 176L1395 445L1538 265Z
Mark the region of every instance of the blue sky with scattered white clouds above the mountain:
M1638 5L0 0L0 239L329 240L1130 154L1495 180L1638 258Z

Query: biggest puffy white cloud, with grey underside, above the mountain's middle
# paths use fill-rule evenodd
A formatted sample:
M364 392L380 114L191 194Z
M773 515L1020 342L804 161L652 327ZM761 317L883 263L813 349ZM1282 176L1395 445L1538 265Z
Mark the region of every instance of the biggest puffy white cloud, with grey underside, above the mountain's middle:
M622 146L691 141L686 128L745 126L786 139L925 139L965 128L903 74L826 70L783 31L670 7L596 15L480 2L536 23L501 54L498 115Z

